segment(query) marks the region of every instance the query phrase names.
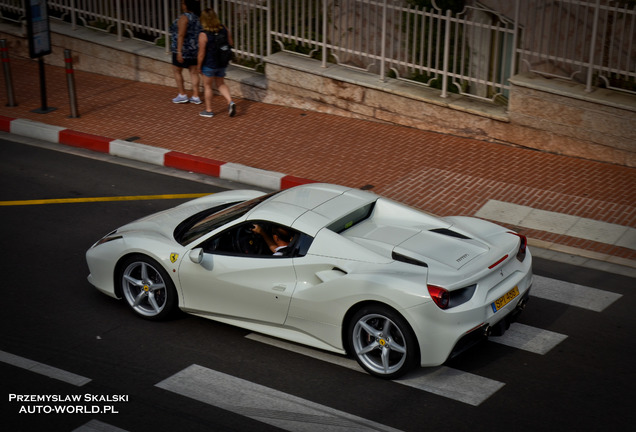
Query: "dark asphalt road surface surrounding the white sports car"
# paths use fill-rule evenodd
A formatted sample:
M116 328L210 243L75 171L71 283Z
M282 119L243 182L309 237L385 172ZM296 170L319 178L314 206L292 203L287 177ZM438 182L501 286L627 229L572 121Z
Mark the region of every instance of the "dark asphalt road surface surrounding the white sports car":
M383 381L344 357L213 321L137 318L87 282L84 253L92 243L183 202L88 198L213 193L237 185L7 138L18 139L0 136L4 431L633 427L631 278L535 259L536 294L506 334L511 340L489 340L440 368ZM10 202L68 198L77 200ZM570 302L579 297L585 302ZM607 299L601 310L588 307L597 299Z

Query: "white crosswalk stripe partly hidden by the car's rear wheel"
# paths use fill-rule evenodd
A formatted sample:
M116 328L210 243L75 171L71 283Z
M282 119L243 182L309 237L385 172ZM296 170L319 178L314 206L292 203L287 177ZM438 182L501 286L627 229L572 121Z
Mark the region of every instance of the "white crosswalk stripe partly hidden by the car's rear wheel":
M246 338L272 345L307 357L322 360L356 372L366 373L358 362L337 354L319 351L313 348L270 338L257 333L250 333ZM496 393L504 383L441 366L438 368L420 369L394 382L423 390L438 396L444 396L469 405L478 406Z

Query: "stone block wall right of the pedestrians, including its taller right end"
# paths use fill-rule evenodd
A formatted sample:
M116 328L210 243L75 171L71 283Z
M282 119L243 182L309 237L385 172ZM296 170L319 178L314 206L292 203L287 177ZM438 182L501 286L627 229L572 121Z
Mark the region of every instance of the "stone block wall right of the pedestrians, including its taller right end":
M292 54L266 61L270 103L636 166L633 95L518 75L504 107Z

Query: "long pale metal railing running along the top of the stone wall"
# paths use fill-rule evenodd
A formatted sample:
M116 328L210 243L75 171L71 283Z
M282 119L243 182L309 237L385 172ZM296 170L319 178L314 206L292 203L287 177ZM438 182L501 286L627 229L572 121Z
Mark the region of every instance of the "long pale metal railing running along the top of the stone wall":
M180 0L49 0L76 26L169 49ZM628 0L482 0L459 13L406 0L203 0L234 36L237 62L259 69L284 50L473 98L505 102L520 71L636 94L636 7ZM475 4L475 5L472 5ZM487 4L489 8L483 6ZM630 7L631 4L631 7ZM476 6L479 5L479 6ZM0 17L23 19L22 0Z

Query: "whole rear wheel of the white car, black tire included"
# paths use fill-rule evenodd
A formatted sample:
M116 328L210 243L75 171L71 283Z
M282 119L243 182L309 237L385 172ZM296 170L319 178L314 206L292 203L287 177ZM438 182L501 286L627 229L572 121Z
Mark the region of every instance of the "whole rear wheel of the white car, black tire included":
M413 330L394 310L366 306L356 312L348 329L349 347L371 375L395 379L414 367L419 354Z

